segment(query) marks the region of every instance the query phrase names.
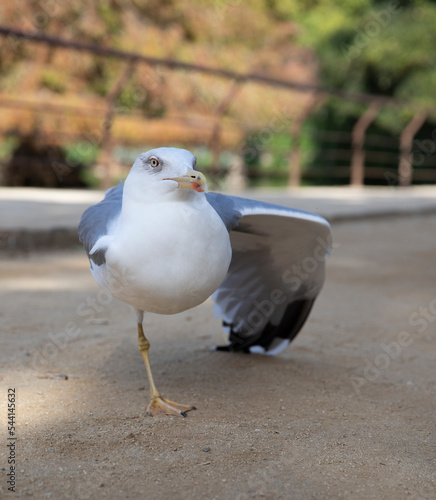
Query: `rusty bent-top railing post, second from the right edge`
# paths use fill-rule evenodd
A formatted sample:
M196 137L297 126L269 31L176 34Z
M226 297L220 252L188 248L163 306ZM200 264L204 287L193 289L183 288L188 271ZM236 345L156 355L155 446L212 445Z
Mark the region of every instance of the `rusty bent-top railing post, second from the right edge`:
M380 111L381 103L373 101L357 120L351 132L353 154L351 157L350 184L363 186L365 181L365 133Z

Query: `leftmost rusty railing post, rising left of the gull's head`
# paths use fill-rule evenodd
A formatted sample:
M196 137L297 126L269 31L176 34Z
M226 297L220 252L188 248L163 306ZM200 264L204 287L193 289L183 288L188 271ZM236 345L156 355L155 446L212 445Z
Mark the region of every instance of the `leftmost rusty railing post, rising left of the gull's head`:
M125 66L123 72L114 83L113 87L110 89L106 96L106 114L103 123L103 137L101 140L101 157L100 161L104 166L104 178L103 178L103 188L109 189L111 187L111 155L112 155L112 123L114 116L114 104L117 97L123 90L124 85L132 76L133 70L135 68L135 62L133 59L129 60Z

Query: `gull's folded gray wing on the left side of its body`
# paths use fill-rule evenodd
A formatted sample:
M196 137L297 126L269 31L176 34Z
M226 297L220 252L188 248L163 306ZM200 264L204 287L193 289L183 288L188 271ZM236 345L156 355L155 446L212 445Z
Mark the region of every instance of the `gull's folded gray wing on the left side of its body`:
M105 246L101 246L93 251L96 242L102 237L107 236L110 226L119 217L121 213L121 205L123 201L123 184L120 182L108 191L104 200L85 210L80 219L78 233L79 240L84 246L90 260L97 266L101 266L106 262Z

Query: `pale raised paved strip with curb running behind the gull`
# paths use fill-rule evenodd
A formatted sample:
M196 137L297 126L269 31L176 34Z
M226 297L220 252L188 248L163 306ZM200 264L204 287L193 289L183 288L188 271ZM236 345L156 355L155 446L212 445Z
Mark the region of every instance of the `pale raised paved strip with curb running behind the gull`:
M409 189L319 187L235 194L308 210L331 222L436 212L436 186ZM77 244L76 228L81 214L103 196L102 191L0 188L0 249L30 250Z

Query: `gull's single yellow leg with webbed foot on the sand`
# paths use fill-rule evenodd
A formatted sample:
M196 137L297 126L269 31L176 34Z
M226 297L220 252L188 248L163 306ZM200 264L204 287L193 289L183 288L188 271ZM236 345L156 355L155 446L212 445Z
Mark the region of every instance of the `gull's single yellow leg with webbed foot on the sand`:
M186 417L186 412L195 410L195 406L181 405L174 403L168 399L163 398L154 385L153 375L151 373L150 360L148 358L148 350L150 349L150 342L144 335L142 324L138 323L138 347L144 360L145 369L147 370L148 382L150 384L150 404L147 407L147 413L150 416L154 415L182 415Z

